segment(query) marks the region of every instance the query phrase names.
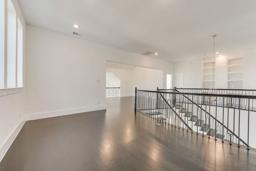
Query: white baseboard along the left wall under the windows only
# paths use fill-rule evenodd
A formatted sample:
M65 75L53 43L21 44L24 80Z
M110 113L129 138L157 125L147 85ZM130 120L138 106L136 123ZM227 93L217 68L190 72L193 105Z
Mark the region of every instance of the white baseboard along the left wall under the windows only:
M9 135L9 137L6 139L6 141L4 141L4 143L0 147L0 162L4 158L4 155L7 153L8 149L12 145L14 139L19 134L19 132L22 129L25 122L26 122L26 116L23 117L23 119L20 121L20 123L16 126L16 128L12 131L12 133Z

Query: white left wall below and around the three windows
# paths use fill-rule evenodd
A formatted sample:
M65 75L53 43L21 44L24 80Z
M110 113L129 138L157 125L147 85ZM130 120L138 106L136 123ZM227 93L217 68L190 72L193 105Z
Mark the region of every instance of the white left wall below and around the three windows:
M12 0L12 4L23 27L23 61L25 63L26 23L18 0ZM25 72L24 66L23 72ZM25 77L23 79L25 80ZM0 161L24 124L24 93L24 88L0 89Z

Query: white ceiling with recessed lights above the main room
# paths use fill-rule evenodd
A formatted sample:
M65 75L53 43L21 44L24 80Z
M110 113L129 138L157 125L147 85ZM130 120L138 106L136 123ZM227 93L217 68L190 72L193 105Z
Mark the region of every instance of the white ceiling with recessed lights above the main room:
M170 62L256 47L256 0L19 0L27 24ZM75 29L73 24L80 28Z

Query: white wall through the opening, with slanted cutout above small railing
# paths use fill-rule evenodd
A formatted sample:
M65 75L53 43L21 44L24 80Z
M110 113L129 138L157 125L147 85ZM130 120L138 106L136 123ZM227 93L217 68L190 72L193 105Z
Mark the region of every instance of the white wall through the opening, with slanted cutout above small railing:
M132 96L132 70L120 70L116 68L106 68L107 72L113 73L120 81L120 96Z

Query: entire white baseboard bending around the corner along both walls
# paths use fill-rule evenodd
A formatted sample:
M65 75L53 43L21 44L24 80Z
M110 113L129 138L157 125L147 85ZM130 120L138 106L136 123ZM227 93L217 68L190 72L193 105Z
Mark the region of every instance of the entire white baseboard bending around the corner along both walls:
M12 131L9 137L4 141L2 146L0 146L0 162L4 158L4 155L12 145L13 141L17 137L18 133L22 129L23 125L26 121L36 120L36 119L43 119L48 117L56 117L56 116L63 116L63 115L71 115L76 113L83 113L88 111L97 111L97 110L104 110L106 109L106 105L97 105L97 106L89 106L89 107L81 107L75 109L65 109L65 110L58 110L58 111L48 111L42 113L32 113L27 114L24 118L20 121L20 123L16 126L16 128Z

